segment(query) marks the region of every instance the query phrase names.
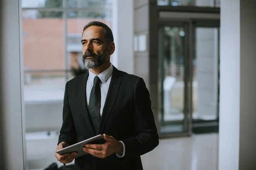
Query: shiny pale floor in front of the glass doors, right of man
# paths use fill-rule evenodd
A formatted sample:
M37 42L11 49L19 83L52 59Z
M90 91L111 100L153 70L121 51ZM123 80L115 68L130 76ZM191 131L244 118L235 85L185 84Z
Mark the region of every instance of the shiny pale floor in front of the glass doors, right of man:
M142 161L145 170L217 170L218 134L161 139Z

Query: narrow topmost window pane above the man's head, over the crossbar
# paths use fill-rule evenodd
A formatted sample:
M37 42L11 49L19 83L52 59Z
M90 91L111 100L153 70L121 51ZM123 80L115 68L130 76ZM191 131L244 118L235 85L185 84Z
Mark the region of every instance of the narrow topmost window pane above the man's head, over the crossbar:
M67 8L112 9L113 0L67 0Z

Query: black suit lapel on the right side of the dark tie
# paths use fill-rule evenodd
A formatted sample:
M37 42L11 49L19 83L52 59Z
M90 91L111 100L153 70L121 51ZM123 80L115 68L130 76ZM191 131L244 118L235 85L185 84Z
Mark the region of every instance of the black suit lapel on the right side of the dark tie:
M106 97L105 105L102 111L102 117L100 119L99 130L97 134L101 134L104 129L106 123L108 122L108 118L112 111L113 105L116 101L116 96L119 91L119 86L121 83L121 79L118 78L118 70L113 66L113 74L111 77L111 82L108 88L108 94Z

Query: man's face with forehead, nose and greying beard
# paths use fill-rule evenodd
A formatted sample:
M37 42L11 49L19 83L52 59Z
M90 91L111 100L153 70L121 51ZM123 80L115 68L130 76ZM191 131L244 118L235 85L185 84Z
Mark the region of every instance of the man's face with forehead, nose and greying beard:
M84 67L97 68L109 59L108 45L102 27L90 26L82 35Z

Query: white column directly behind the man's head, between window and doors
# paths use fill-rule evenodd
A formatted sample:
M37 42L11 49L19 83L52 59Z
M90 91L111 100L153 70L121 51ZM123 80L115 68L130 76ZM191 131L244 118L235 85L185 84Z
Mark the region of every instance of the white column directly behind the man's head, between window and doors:
M133 0L113 0L113 36L116 50L111 62L119 70L134 74Z

